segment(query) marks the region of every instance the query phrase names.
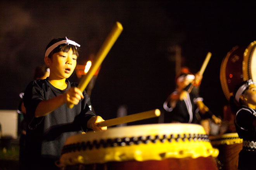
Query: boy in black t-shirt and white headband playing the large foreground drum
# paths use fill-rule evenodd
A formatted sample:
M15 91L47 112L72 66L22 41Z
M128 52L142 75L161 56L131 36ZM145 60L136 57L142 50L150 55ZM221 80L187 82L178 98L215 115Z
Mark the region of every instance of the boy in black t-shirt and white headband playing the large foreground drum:
M67 80L76 67L79 47L67 37L50 41L44 58L50 68L49 77L34 80L25 90L27 169L58 169L55 160L61 156L67 137L87 131L87 128L93 131L107 129L97 126L104 120L92 111L86 92ZM69 109L69 104L74 107Z

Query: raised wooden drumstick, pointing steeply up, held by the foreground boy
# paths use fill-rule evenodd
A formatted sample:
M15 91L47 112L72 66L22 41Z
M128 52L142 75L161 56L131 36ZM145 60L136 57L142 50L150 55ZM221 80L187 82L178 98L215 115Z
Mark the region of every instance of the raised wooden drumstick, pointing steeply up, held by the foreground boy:
M122 24L119 22L116 22L115 26L112 28L112 31L109 33L106 40L104 41L101 48L99 49L98 53L96 54L90 70L88 71L88 73L86 75L84 75L81 78L80 83L78 84L78 88L81 92L83 92L83 90L85 90L86 86L92 79L94 73L97 71L97 69L101 65L102 61L104 60L107 53L109 52L109 50L111 49L113 44L116 42L116 39L118 39L118 37L122 31L123 31ZM70 109L72 109L73 106L74 106L74 104L68 105L68 107Z

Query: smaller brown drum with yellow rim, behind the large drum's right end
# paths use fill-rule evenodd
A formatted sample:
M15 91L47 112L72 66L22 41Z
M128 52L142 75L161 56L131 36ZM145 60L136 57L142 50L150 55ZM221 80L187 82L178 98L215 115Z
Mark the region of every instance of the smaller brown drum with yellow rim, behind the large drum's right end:
M218 159L224 170L237 170L238 156L242 150L243 139L237 133L227 133L220 136L210 136L211 144L218 148Z

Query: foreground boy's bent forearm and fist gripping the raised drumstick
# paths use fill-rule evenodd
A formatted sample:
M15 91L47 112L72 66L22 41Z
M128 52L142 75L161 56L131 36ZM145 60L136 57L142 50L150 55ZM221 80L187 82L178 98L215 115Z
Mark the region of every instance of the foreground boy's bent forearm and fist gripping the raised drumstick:
M41 101L36 107L35 117L45 116L65 103L76 105L81 99L83 99L83 93L78 88L71 87L67 93Z

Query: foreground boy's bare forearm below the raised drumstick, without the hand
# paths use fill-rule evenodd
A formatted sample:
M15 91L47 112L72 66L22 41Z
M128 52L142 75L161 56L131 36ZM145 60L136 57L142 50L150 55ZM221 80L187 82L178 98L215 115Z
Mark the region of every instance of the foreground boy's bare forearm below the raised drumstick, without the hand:
M61 105L65 104L65 94L59 95L49 100L40 102L35 110L35 117L46 116Z

